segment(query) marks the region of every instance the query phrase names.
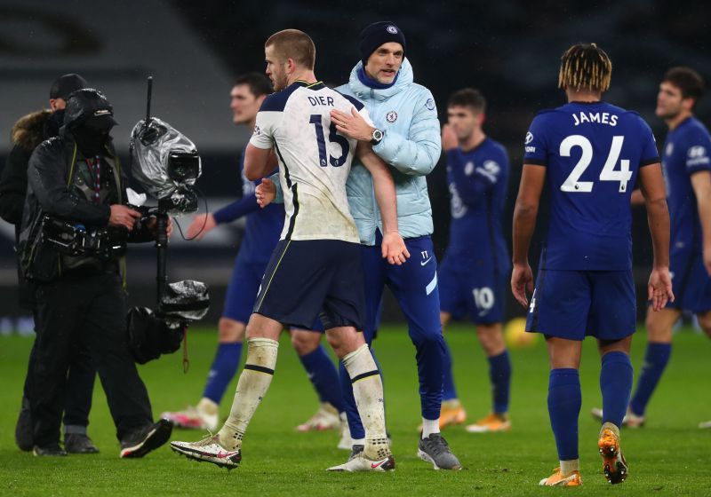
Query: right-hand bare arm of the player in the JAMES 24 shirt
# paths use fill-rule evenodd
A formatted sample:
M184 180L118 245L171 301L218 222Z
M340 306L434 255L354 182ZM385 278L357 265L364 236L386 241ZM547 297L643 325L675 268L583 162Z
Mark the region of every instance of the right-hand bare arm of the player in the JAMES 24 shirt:
M669 300L674 302L672 279L669 275L669 210L659 162L639 170L639 185L647 206L647 220L654 251L647 293L651 308L659 311Z

